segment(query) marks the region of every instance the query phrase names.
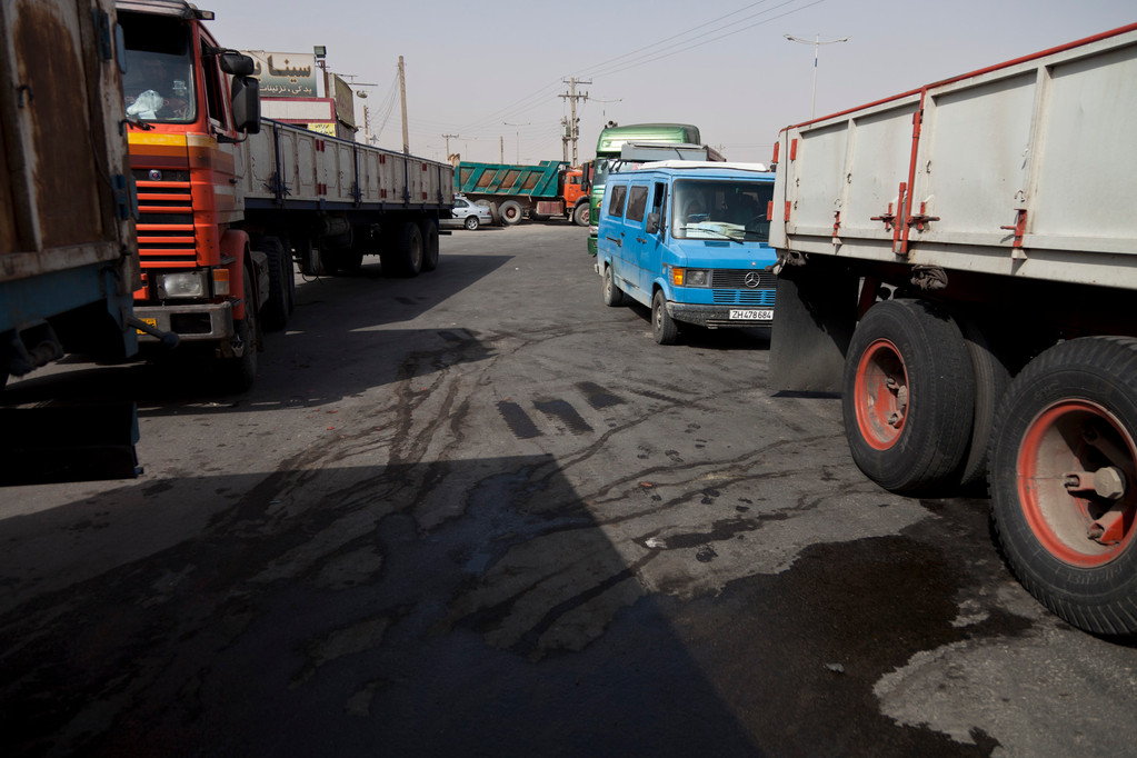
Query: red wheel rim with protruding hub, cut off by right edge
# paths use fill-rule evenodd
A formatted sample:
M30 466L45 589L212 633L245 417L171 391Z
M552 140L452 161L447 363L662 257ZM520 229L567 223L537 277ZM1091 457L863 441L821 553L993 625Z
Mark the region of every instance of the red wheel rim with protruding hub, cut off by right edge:
M1103 498L1071 491L1071 473L1121 473L1123 494ZM1105 408L1082 400L1059 402L1030 423L1018 456L1019 502L1038 541L1059 560L1084 568L1120 556L1134 539L1137 445ZM1103 523L1105 535L1096 535Z

